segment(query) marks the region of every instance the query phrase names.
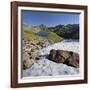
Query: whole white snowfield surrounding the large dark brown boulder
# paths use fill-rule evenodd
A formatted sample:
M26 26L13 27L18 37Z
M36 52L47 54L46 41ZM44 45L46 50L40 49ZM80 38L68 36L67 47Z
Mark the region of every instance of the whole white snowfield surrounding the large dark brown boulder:
M23 70L23 77L29 76L56 76L77 75L79 68L55 63L46 58L51 49L67 50L79 53L79 42L59 42L40 50L41 59L34 63L29 69Z

